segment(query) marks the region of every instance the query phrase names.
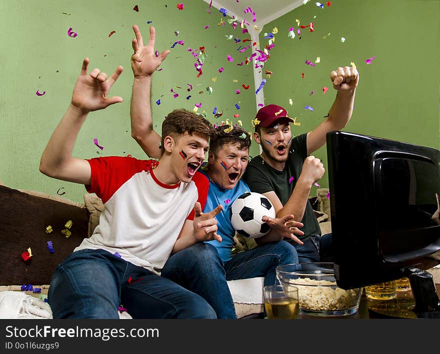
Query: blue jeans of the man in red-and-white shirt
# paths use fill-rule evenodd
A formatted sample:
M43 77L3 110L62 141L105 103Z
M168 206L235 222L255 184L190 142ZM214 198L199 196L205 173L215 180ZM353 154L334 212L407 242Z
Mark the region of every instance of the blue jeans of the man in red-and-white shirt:
M119 305L133 318L216 318L201 296L102 249L67 256L47 300L53 318L118 318Z

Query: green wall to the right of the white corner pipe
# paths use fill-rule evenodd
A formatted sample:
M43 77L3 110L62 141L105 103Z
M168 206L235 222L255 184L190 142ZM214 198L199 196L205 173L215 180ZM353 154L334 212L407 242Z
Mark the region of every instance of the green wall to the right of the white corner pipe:
M301 125L292 126L294 135L309 132L334 101L330 72L354 62L359 85L351 120L343 130L438 149L440 2L335 0L330 7L322 2L323 9L314 3L265 25L260 33L263 46L267 43L263 33L278 29L263 68L273 72L264 86L265 104L281 105L297 117ZM313 22L314 31L301 29L301 39L288 38L288 29L298 28L296 19L300 25ZM375 59L367 65L365 59L372 56ZM305 64L306 60L314 64L316 57L319 64ZM314 155L325 167L326 147ZM328 187L327 174L318 183ZM314 191L313 187L311 194Z

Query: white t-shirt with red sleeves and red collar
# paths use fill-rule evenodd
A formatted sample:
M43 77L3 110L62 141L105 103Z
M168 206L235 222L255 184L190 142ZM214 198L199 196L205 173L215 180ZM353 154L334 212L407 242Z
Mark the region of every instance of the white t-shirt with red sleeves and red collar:
M166 185L154 176L154 160L111 156L87 161L91 184L86 190L102 199L104 210L93 234L74 251L117 252L160 275L184 221L194 219L194 203L205 205L207 178L197 172L189 183Z

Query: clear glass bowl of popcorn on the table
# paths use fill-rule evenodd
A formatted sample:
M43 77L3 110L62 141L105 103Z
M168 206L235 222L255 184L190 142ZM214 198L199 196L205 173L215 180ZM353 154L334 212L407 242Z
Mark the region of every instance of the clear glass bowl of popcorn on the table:
M334 277L334 263L294 263L276 267L280 284L298 288L300 313L344 316L357 312L362 288L342 289Z

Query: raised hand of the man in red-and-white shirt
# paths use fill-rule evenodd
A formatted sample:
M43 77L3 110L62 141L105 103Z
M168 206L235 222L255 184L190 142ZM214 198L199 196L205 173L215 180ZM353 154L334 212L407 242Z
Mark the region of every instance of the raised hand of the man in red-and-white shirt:
M71 105L82 110L84 113L104 109L112 104L122 102L122 97L107 97L108 91L122 73L123 68L118 66L113 74L107 79L107 74L99 69L93 69L87 74L88 63L85 58L82 61L81 73L73 88Z

